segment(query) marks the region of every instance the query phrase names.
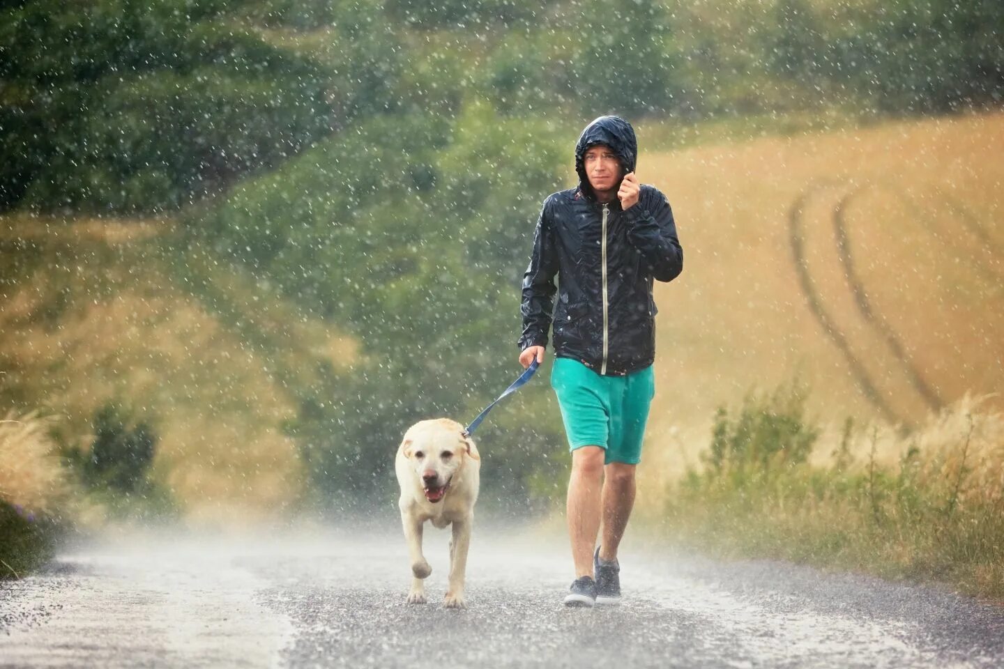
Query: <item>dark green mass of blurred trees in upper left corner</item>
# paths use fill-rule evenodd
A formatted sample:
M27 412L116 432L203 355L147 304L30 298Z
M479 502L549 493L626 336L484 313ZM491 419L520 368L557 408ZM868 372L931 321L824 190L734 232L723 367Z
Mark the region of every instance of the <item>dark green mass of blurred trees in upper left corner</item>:
M35 0L8 10L0 147L16 159L0 166L0 206L177 207L386 106L393 58L353 41L357 25L328 41L357 68L328 70L221 16L240 6Z

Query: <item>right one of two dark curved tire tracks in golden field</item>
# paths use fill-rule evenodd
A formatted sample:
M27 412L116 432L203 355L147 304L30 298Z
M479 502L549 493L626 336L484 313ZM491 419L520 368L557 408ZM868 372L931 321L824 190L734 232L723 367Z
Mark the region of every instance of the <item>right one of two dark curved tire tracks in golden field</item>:
M847 236L847 222L844 214L847 206L867 188L867 186L859 187L844 194L833 209L833 232L836 235L836 253L840 258L844 276L850 285L850 292L853 295L854 304L857 306L857 311L861 315L861 318L874 328L886 341L890 350L893 351L893 355L903 366L911 385L924 398L928 407L934 411L938 411L945 406L945 400L933 386L924 380L917 365L911 359L910 354L907 353L907 349L900 340L899 335L896 334L882 313L877 312L871 306L867 292L864 290L864 284L861 282L854 268L853 253L850 250L850 240Z

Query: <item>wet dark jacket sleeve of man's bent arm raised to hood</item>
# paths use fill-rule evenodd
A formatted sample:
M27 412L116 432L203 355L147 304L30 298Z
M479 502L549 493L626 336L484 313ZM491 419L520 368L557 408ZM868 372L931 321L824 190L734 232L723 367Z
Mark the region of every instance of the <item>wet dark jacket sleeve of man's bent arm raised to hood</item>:
M677 239L673 210L666 196L658 190L643 188L638 203L624 211L628 241L642 254L653 277L659 281L673 281L684 269L684 250Z

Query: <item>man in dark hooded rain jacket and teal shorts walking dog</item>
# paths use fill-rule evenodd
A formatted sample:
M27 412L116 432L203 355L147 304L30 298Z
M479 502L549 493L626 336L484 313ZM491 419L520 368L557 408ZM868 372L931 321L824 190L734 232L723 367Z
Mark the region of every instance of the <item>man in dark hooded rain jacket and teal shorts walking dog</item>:
M544 201L523 277L519 361L543 362L553 316L551 385L572 453L567 515L575 581L568 606L620 601L617 547L635 503L635 467L655 393L653 281L672 281L683 270L670 204L639 184L637 158L635 130L624 119L600 116L582 130L578 187Z

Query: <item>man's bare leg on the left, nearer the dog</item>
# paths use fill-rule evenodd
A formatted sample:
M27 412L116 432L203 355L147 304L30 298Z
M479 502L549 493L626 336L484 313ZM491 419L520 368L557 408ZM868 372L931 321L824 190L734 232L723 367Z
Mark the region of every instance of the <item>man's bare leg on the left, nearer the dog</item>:
M571 451L567 513L576 579L593 576L592 551L599 533L603 457L599 446L582 446Z

